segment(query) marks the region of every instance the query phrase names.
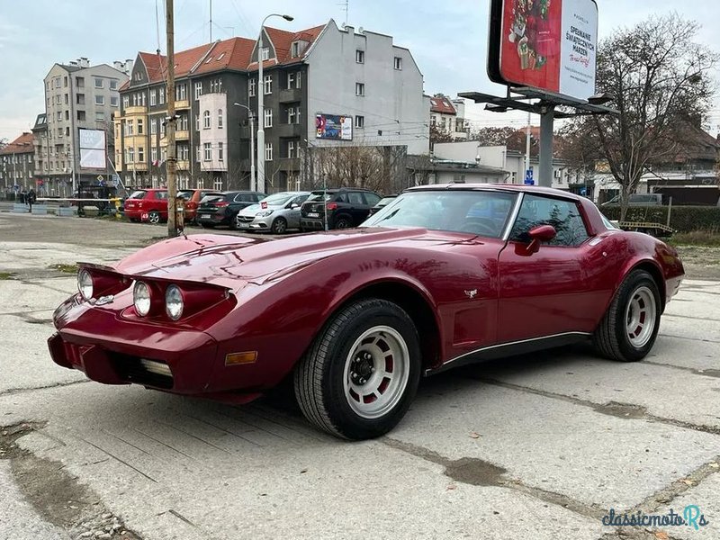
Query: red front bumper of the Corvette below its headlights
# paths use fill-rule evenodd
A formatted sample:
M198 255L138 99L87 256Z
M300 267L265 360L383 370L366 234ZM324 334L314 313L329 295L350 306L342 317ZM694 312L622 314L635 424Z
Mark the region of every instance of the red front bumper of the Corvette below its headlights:
M54 319L58 332L48 347L57 365L80 370L98 383L207 392L218 345L205 332L123 320L115 310L75 297L60 305Z

